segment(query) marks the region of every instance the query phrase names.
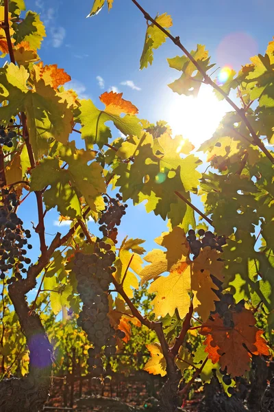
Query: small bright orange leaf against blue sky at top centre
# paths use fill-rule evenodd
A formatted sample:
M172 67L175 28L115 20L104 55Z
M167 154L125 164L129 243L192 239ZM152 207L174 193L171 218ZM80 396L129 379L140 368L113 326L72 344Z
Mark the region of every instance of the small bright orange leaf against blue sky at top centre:
M138 108L129 100L122 99L122 96L123 93L114 93L113 91L108 93L105 91L100 96L101 102L105 104L105 111L112 115L121 115L121 113L136 115Z

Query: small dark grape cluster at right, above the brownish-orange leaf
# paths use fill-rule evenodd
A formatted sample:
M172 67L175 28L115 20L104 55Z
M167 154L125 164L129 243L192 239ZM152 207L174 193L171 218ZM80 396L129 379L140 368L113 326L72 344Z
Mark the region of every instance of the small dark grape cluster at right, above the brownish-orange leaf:
M195 230L190 229L187 236L194 259L197 258L203 247L210 246L211 249L216 249L220 252L223 251L222 246L226 244L225 236L216 236L211 231L204 231L203 229L199 229L197 234L199 239L197 239Z

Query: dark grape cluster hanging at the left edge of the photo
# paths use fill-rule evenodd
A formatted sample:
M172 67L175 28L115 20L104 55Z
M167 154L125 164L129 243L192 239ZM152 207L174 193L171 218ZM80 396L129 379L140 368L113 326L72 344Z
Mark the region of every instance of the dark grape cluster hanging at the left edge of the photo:
M32 249L32 245L27 243L31 237L28 229L23 229L23 222L14 211L18 206L18 199L15 192L4 189L1 192L2 201L0 205L0 279L5 279L5 272L14 268L14 275L8 279L11 284L16 279L22 279L21 273L27 273L27 268L31 260L27 258L27 249Z

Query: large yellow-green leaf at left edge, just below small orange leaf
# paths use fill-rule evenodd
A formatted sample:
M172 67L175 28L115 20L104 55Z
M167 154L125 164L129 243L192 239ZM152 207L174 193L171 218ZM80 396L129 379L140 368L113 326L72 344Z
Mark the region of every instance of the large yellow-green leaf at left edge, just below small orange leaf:
M54 137L66 144L73 126L73 113L66 102L44 80L33 82L30 89L27 84L29 73L23 66L13 63L0 69L0 83L3 92L0 102L8 100L0 107L0 122L8 124L10 117L23 111L27 115L29 142L36 157L41 157L49 150L47 139Z

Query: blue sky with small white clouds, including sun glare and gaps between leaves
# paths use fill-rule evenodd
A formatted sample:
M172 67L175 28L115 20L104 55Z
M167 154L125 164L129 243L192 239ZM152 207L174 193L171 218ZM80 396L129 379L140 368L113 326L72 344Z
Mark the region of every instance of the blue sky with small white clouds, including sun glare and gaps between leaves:
M175 95L167 84L178 78L169 68L166 58L179 55L180 50L167 41L154 53L152 67L139 70L139 59L145 38L146 21L130 0L114 0L108 12L104 7L86 19L92 0L25 0L27 10L40 13L45 22L47 38L42 43L40 58L45 64L57 63L71 76L70 87L80 98L90 98L100 108L99 95L104 91L123 92L139 108L139 117L156 122L164 119L175 134L189 138L198 148L209 139L225 111L226 102L217 102L208 87L201 89L197 100ZM273 0L140 0L152 16L167 12L173 17L173 35L180 36L184 46L195 49L197 43L206 45L216 67L240 69L249 57L264 54L272 40ZM118 137L118 131L113 137ZM79 137L77 137L79 139ZM31 194L23 203L20 216L25 227L30 221L37 224L36 201ZM58 215L49 211L45 218L47 240L56 231L66 233L68 226L58 225ZM97 234L95 224L90 231ZM166 222L153 213L147 214L144 205L133 207L129 202L127 214L119 228L119 240L124 236L145 238L145 247L156 245L153 239L166 231ZM38 254L38 238L34 235L32 255Z

